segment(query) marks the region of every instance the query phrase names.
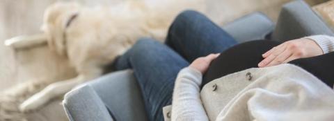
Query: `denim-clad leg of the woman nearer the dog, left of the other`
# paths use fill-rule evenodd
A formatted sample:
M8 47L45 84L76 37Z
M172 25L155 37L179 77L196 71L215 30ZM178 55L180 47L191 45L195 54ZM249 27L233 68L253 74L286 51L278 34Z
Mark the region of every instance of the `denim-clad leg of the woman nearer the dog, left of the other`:
M150 120L164 120L162 108L171 104L177 73L188 66L180 55L152 39L140 39L116 62L116 69L132 68L141 87Z

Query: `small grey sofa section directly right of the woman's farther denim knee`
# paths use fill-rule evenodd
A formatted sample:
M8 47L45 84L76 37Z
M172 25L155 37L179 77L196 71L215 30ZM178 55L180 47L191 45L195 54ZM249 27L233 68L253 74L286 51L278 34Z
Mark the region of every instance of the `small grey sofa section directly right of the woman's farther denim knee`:
M240 43L255 39L264 39L273 31L273 22L261 12L246 15L223 26Z

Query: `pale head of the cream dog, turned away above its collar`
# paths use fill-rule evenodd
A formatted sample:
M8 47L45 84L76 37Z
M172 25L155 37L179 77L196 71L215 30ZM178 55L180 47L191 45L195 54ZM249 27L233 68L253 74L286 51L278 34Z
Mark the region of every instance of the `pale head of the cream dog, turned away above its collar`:
M47 44L59 55L66 54L65 31L80 10L80 5L74 2L54 3L45 10L41 30L47 35Z

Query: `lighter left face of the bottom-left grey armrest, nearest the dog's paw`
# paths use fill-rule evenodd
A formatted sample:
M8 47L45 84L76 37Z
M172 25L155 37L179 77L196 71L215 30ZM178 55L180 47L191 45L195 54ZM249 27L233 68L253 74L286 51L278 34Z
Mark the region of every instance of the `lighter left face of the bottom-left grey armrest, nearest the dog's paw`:
M88 85L70 91L64 98L63 107L71 121L113 120L104 102Z

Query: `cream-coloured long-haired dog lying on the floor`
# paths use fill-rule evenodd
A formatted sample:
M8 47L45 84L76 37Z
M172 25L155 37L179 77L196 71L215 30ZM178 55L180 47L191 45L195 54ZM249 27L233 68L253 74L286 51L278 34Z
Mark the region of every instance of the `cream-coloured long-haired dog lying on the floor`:
M204 10L203 0L128 0L113 7L88 8L78 3L55 3L45 11L42 31L49 48L66 56L78 75L49 84L20 106L31 111L74 86L102 75L103 67L125 53L138 38L163 41L178 13ZM15 41L19 48L38 41ZM27 43L27 44L25 44ZM15 46L14 46L15 47ZM40 82L43 83L43 82Z

